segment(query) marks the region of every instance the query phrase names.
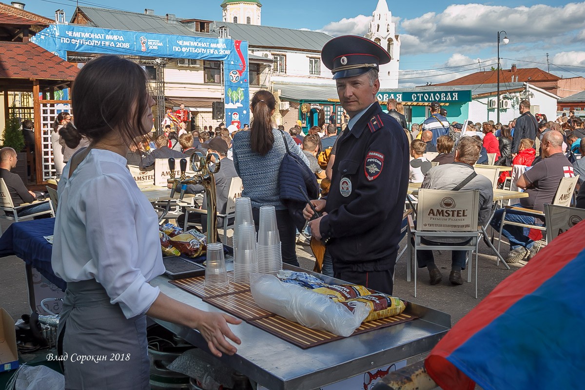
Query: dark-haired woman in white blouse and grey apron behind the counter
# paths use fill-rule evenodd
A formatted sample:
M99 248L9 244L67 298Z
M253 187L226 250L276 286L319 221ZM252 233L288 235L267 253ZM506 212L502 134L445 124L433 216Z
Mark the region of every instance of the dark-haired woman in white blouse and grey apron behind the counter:
M198 329L216 356L235 353L225 337L240 340L227 323L240 320L149 284L164 272L158 219L125 158L152 127L144 71L120 57L96 58L78 73L72 96L68 130L91 144L71 157L58 188L52 265L67 282L58 344L66 389L149 389L146 315ZM87 356L106 360L78 360Z

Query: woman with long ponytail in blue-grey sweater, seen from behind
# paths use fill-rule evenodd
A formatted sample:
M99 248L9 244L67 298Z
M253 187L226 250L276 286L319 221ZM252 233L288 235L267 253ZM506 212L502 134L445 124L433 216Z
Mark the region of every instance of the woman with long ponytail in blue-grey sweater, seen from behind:
M295 241L297 229L286 206L278 196L278 168L286 147L283 132L274 129L271 116L276 107L274 95L269 91L258 91L250 103L254 119L247 132L238 132L233 137L233 163L242 178L242 196L252 201L252 215L256 230L259 228L261 206L276 208L276 223L281 241L281 253L285 263L298 267ZM309 161L288 133L284 139L291 153L296 154L307 166Z

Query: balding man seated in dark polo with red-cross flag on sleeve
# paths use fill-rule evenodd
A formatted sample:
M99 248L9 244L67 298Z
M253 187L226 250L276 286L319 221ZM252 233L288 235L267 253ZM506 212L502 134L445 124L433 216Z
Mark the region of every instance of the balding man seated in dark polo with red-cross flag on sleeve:
M542 137L542 157L530 170L526 171L516 182L519 188L528 193L528 198L521 198L514 206L544 212L545 203L552 203L556 190L563 177L574 177L573 165L563 154L563 134L546 132ZM497 210L490 225L500 230L504 209ZM506 220L543 226L544 220L522 215L516 210L506 212ZM528 237L528 228L505 225L502 233L510 241L510 254L506 263L519 263L530 260L540 249L540 244Z

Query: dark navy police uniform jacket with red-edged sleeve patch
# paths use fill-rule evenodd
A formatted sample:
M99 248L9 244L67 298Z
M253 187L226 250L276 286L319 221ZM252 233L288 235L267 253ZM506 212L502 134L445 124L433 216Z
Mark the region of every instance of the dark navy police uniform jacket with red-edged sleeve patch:
M394 267L408 188L408 141L375 102L338 140L319 229L335 272Z

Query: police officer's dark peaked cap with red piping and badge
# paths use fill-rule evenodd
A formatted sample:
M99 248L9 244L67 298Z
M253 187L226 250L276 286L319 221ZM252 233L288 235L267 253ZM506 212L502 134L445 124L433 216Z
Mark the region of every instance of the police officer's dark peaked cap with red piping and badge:
M379 65L387 64L391 59L379 44L355 35L333 38L321 50L321 60L332 71L333 79L380 70Z

